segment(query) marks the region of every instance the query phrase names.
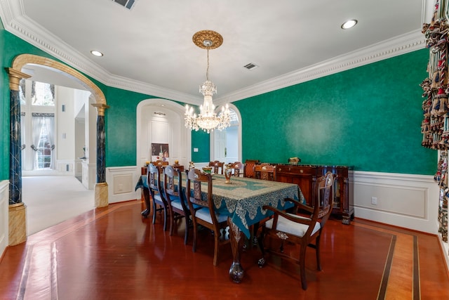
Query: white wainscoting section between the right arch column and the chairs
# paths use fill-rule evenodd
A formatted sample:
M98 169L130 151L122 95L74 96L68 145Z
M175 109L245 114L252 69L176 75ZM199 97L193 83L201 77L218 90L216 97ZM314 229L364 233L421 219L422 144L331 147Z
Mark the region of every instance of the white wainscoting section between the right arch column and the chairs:
M109 203L140 199L140 189L134 190L139 177L140 167L106 168Z

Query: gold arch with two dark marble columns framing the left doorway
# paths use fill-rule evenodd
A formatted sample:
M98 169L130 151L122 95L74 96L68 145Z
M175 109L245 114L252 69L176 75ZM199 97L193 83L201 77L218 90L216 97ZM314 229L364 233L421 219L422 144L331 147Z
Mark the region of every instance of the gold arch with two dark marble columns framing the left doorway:
M9 212L10 224L14 223L15 228L8 228L9 244L18 244L26 240L26 214L25 205L22 203L22 171L20 155L17 155L17 149L20 149L20 134L17 128L20 128L20 103L18 103L18 84L20 79L32 77L24 72L27 65L37 65L45 67L55 72L65 74L65 76L79 82L87 91L90 91L95 103L92 103L97 109L97 183L95 184L95 207L105 207L108 204L107 183L105 180L105 110L108 108L105 95L93 84L93 82L72 67L59 63L50 58L35 56L32 54L22 54L14 58L11 68L8 68L10 79L10 98L11 103L11 141L10 149L10 188L9 188ZM12 104L13 105L13 104ZM18 108L19 107L19 108Z

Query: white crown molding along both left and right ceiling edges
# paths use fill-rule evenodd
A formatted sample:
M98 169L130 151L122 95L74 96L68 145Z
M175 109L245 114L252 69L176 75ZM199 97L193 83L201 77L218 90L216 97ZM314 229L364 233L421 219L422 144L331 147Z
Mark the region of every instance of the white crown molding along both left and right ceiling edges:
M92 60L86 58L78 51L74 51L64 41L55 37L45 30L41 25L27 17L22 7L22 1L18 0L0 0L0 18L5 29L29 44L51 54L63 63L74 67L79 72L100 81L106 86L145 93L159 98L177 100L184 103L199 105L202 99L187 93L180 93L170 89L163 88L141 81L135 81L124 77L119 77L104 70ZM282 76L262 81L253 86L227 93L214 98L215 103L232 103L238 100L257 96L262 93L283 89L287 86L293 86L305 81L325 77L330 74L342 72L360 67L369 63L375 63L404 53L416 51L425 48L424 35L420 31L410 32L399 37L394 37L378 44L373 44L366 48L358 49L343 56L338 56L326 60L316 65L305 67Z

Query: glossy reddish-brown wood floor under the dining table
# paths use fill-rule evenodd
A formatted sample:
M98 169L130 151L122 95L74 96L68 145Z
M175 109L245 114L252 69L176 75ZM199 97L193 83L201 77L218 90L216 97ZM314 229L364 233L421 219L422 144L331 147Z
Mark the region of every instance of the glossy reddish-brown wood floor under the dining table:
M0 263L0 299L449 299L438 238L360 219L330 220L322 271L307 254L308 289L297 266L260 251L242 254L245 278L229 280L230 245L213 266L213 237L192 252L184 228L170 237L161 219L142 219L140 201L111 204L8 247ZM291 246L288 246L291 247ZM286 249L293 251L294 249Z

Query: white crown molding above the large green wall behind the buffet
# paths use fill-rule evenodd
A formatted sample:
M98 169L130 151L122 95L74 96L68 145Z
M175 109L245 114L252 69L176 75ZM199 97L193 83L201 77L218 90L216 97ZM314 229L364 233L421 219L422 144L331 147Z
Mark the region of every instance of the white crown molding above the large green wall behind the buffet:
M366 48L345 53L342 56L305 67L301 70L296 70L267 81L262 81L253 86L248 86L245 89L227 93L226 95L220 96L220 98L214 98L214 101L217 105L222 105L226 102L236 102L262 93L268 93L277 89L283 89L287 86L293 86L305 81L343 72L353 69L354 67L360 67L394 56L400 56L401 54L416 51L425 47L424 34L420 31L410 32L399 37L394 37L393 39L382 41L378 44L373 44Z

